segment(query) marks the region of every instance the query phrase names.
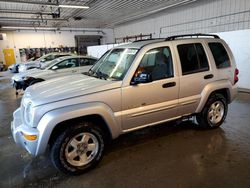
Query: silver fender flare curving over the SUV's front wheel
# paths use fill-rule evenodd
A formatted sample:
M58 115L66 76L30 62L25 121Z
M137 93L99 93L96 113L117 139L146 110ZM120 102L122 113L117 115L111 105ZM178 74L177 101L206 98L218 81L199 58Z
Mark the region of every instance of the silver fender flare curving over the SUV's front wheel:
M106 121L112 138L116 138L121 134L121 121L115 118L112 109L108 105L94 102L66 106L47 112L39 121L37 126L39 138L36 155L45 152L52 131L59 123L87 115L100 115Z

